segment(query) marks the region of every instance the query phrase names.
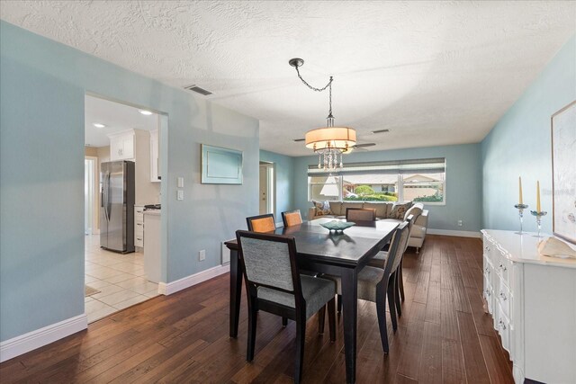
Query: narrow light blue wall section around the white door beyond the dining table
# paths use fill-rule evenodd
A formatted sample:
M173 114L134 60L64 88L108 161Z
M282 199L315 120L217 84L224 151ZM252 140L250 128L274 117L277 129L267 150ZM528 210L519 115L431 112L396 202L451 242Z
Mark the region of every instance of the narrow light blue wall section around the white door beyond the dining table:
M260 161L275 164L276 172L276 222L282 222L281 213L294 210L294 157L260 150Z

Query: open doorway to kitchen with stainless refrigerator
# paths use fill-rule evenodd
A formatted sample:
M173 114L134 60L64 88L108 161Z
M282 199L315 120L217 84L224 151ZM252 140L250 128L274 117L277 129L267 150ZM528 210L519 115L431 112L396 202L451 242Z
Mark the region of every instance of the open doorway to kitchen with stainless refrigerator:
M167 120L162 112L85 94L84 272L89 324L157 296L158 282L165 281L166 212L161 212L159 233L148 230L150 238L158 237L156 243L148 243L159 243L160 249L148 252L152 248L145 250L144 206L166 203L162 174L167 172ZM134 201L126 198L131 191ZM111 236L120 241L111 246ZM159 279L153 277L157 271Z

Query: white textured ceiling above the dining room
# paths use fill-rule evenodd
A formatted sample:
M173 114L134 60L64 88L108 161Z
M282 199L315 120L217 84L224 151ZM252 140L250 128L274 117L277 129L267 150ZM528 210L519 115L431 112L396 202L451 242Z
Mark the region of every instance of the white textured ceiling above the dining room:
M0 17L260 120L310 155L335 76L337 125L371 150L478 142L576 32L576 2L2 1ZM576 85L575 85L576 86ZM200 96L202 97L202 96ZM374 135L375 129L391 129Z

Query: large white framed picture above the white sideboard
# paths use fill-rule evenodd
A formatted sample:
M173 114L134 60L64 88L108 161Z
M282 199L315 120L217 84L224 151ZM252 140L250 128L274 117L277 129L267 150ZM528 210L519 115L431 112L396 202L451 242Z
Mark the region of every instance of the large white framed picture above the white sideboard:
M553 232L576 244L576 101L552 115Z

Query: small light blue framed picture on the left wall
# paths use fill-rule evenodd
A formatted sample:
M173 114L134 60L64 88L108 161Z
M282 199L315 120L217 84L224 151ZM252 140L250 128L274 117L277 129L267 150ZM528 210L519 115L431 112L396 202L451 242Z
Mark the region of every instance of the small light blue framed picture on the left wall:
M242 184L242 151L205 144L201 149L202 184Z

